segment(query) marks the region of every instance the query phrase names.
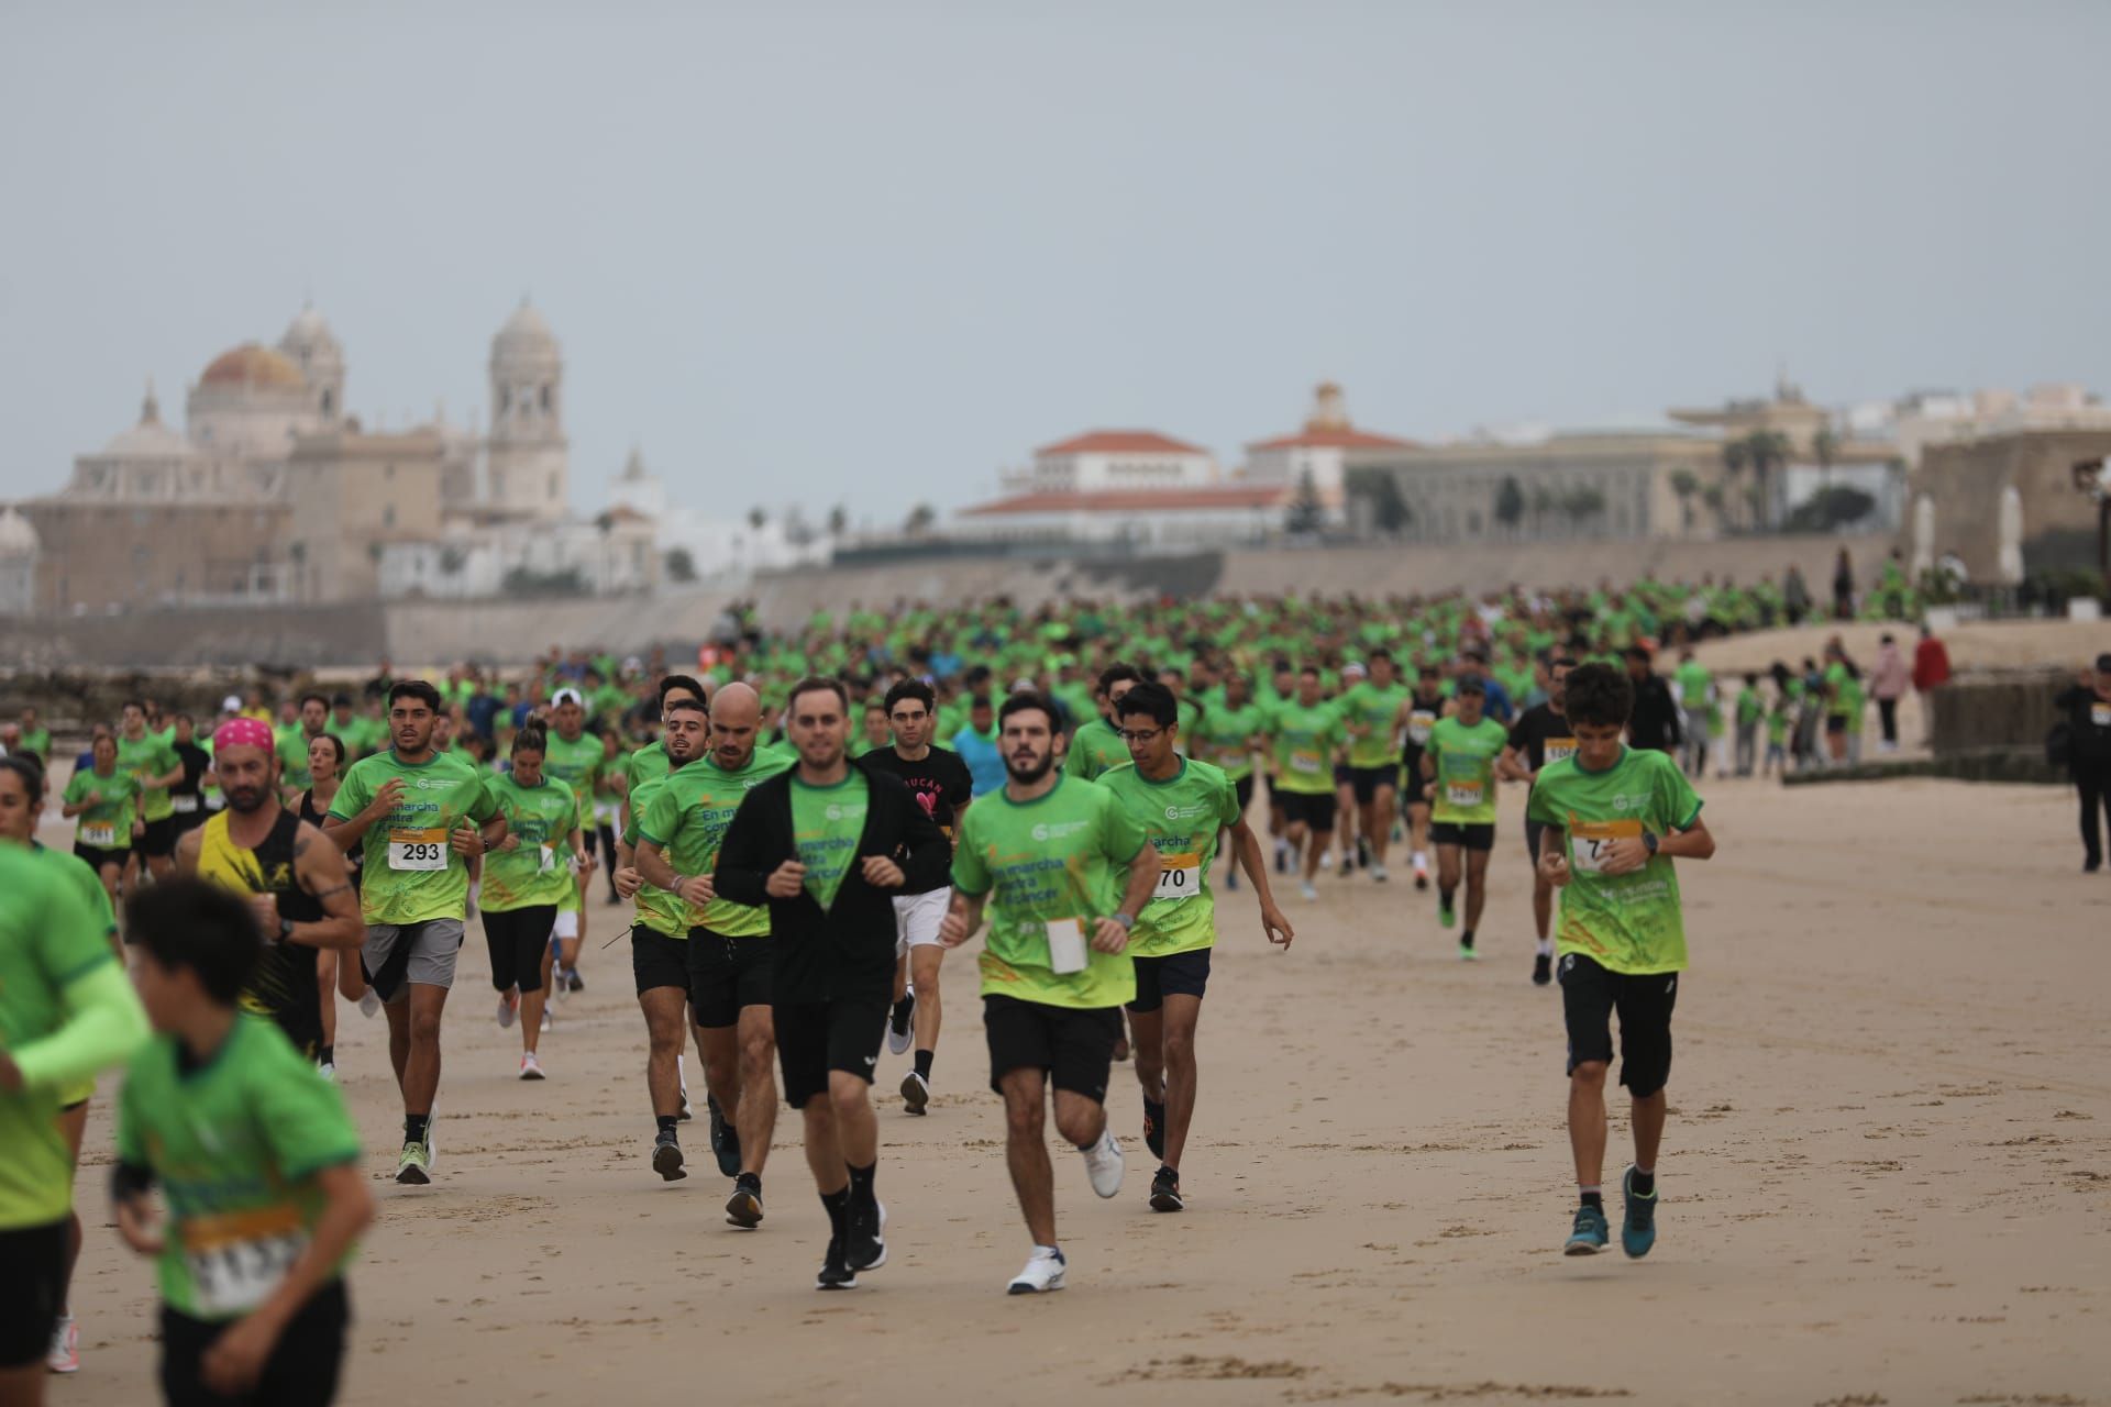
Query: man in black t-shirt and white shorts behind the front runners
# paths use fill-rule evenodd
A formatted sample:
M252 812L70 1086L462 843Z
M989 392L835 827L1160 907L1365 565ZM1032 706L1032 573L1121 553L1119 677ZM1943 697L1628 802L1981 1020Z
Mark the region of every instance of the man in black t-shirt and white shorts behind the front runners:
M950 842L975 795L975 778L958 753L931 745L931 734L937 730L937 694L923 679L904 679L887 690L885 705L893 745L872 749L863 755L863 764L899 778ZM946 956L937 926L946 922L950 901L952 892L946 886L923 894L895 894L904 972L895 979L887 1048L901 1055L912 1038L916 1042L916 1067L901 1076L901 1103L910 1114L923 1114L931 1103L931 1061L937 1057L942 1010L937 970Z

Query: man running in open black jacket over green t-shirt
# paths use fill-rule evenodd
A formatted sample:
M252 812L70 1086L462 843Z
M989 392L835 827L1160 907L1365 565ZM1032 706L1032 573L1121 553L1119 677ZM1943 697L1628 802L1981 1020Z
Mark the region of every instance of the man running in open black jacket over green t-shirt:
M741 802L714 886L733 903L768 903L777 1061L830 1223L815 1287L853 1289L859 1270L887 1264L870 1093L895 983L893 897L948 884L952 846L908 787L844 755L840 679L796 683L785 728L798 768Z

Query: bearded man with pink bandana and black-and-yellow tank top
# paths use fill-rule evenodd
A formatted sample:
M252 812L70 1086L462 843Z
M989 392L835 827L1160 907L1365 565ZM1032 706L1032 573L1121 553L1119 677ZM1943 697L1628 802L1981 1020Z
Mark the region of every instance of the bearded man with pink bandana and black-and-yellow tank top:
M228 806L184 831L175 867L247 897L264 949L239 1006L277 1021L293 1048L315 1061L323 1046L315 951L359 947L365 937L344 852L279 804L277 740L266 724L247 717L222 724L213 734L213 772Z

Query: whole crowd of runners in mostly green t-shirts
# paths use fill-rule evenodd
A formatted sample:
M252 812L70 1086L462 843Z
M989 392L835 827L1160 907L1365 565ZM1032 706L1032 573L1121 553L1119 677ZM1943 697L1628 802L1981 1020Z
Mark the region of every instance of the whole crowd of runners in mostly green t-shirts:
M1277 886L1324 903L1338 882L1324 873L1389 884L1404 850L1406 884L1433 888L1459 958L1480 958L1503 785L1524 793L1528 979L1562 987L1577 1186L1562 1247L1611 1238L1617 1015L1634 1105L1619 1236L1647 1255L1687 966L1674 861L1714 852L1691 732L1720 707L1691 658L1670 679L1659 660L1769 618L1758 593L1708 591L1718 610L1651 582L853 608L785 635L728 612L686 669L591 652L437 677L384 662L277 713L230 696L203 724L133 700L61 759L63 787L25 715L0 757L0 1242L21 1266L0 1285L0 1403L40 1401L46 1363L78 1367L74 1162L93 1078L120 1065L112 1198L125 1240L160 1261L169 1401L329 1401L342 1272L372 1215L331 1086L338 1021L384 1017L395 1181L429 1183L464 939L481 930L479 1019L517 1027L519 1078L564 1078L543 1065L564 1019L551 998L621 981L587 960L597 911L629 939L642 1175L690 1175L695 1048L724 1219L766 1226L783 1099L828 1215L815 1285L830 1291L889 1259L882 1046L908 1057L899 1110L929 1116L942 964L980 943L988 1086L1030 1245L1007 1289L1062 1289L1049 1120L1091 1192L1119 1196L1129 1154L1108 1103L1129 1063L1153 1162L1140 1202L1182 1211L1218 937L1288 949ZM1784 705L1796 721L1811 698L1830 709L1843 677L1843 652L1777 677L1758 726L1773 736ZM1742 700L1761 692L1729 694L1739 772L1756 751ZM74 823L72 856L36 842L46 812Z

